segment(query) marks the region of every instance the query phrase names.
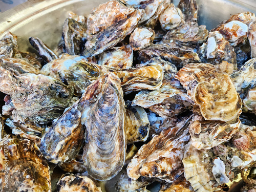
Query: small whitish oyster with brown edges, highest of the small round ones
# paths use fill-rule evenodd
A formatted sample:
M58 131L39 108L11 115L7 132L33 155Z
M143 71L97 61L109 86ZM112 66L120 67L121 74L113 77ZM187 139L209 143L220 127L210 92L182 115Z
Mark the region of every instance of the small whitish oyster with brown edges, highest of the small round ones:
M183 14L174 4L170 4L161 13L159 22L164 30L171 30L184 23Z

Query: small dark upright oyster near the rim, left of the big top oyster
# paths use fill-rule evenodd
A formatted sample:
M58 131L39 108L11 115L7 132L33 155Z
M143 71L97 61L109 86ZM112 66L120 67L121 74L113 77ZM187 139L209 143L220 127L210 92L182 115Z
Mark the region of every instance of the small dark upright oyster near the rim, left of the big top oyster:
M66 52L70 55L80 55L87 39L87 26L75 19L65 20L62 38L65 42Z

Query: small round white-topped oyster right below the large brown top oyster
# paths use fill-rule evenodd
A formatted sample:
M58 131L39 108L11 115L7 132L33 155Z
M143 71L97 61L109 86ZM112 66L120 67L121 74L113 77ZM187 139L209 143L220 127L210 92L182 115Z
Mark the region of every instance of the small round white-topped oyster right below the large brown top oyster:
M152 44L155 32L151 28L136 28L130 36L130 45L134 51L144 49Z

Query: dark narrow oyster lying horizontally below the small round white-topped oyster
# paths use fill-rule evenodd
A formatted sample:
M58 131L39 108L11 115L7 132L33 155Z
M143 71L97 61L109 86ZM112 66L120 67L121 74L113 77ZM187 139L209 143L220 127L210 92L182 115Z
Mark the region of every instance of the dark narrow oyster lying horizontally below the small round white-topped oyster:
M188 62L195 62L199 60L197 53L191 50L184 50L182 48L170 47L167 44L152 45L138 52L138 59L141 61L148 61L152 57L161 57L173 63L176 67L181 68Z

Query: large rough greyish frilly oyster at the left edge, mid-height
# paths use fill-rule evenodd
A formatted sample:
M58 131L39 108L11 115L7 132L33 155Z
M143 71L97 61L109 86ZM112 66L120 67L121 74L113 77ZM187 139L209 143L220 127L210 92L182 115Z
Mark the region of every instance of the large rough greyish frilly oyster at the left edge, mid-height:
M55 78L38 74L39 70L28 63L24 65L23 59L9 61L0 60L0 91L11 96L15 108L12 119L43 124L60 116L72 98L73 89Z

